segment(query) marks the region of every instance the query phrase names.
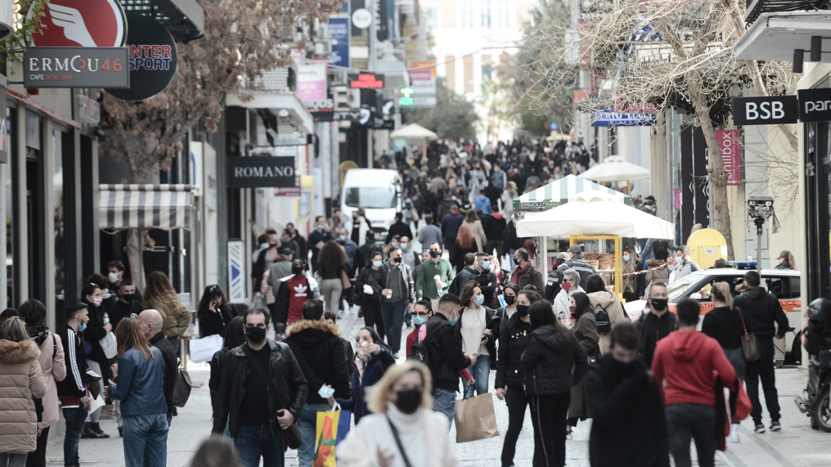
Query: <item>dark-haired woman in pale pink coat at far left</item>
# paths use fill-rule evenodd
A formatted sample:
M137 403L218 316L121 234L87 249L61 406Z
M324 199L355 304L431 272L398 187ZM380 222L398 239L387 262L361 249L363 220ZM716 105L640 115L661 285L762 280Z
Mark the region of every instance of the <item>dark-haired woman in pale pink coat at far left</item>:
M47 440L49 427L55 425L57 415L57 387L55 381L66 378L66 362L63 359L61 337L53 334L46 326L47 307L39 300L28 299L20 306L20 317L26 322L26 332L41 350L37 361L41 364L43 381L47 393L43 396L43 417L37 422L37 450L30 452L26 460L28 466L47 465Z

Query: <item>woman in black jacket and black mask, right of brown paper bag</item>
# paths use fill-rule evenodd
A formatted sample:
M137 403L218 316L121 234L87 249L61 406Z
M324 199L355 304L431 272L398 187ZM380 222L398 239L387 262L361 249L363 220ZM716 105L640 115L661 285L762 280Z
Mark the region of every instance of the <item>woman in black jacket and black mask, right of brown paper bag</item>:
M505 289L506 301L509 297L507 293L513 292L512 287L517 288L516 285L511 284ZM525 419L525 407L529 405L529 398L525 396L524 389L525 370L519 362L519 357L528 346L528 339L531 335L529 308L534 302L541 300L537 292L531 290L520 290L512 297L516 297L515 311L499 334L499 358L494 384L496 396L508 405L508 433L502 445L504 467L514 465L514 452Z

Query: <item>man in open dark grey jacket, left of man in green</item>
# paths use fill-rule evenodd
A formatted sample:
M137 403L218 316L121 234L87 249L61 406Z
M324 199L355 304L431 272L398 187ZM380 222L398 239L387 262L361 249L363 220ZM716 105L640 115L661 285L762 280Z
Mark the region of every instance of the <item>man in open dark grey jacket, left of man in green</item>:
M390 248L390 259L381 266L381 317L386 327L386 343L393 356L401 350L404 313L416 302L416 286L410 266L401 261L401 247Z

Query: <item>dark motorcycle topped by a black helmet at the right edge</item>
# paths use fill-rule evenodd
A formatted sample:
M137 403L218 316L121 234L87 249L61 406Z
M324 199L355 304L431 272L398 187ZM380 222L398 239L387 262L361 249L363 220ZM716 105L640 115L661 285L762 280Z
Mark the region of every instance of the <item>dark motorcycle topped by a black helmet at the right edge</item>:
M808 386L794 402L811 428L831 433L831 302L817 298L808 307L804 346L809 353Z

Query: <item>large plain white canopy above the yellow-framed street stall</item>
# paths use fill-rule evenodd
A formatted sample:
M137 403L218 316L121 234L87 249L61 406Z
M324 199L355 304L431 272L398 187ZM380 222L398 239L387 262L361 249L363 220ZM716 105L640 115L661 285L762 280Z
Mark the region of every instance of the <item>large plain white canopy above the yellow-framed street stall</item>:
M597 192L583 192L572 202L542 213L528 214L517 223L517 237L568 238L573 235L669 240L675 238L675 225Z

